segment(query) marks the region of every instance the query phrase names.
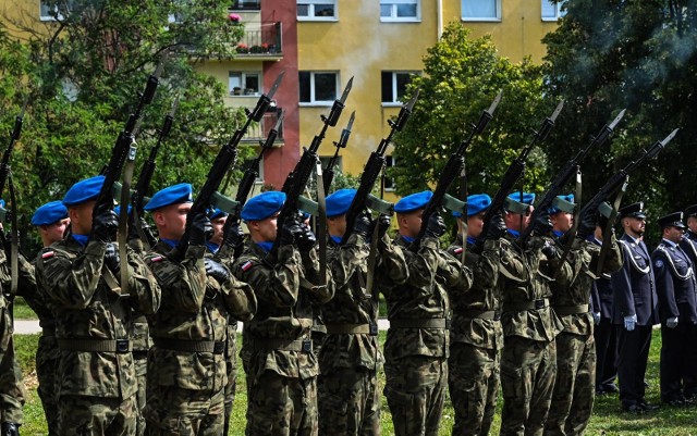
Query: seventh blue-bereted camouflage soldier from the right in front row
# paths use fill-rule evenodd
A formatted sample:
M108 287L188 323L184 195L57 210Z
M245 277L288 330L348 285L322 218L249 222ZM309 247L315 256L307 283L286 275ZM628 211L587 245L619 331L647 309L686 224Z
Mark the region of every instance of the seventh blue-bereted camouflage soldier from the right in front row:
M146 259L163 297L149 317L154 347L145 418L152 436L222 434L228 319L249 320L256 311L252 289L205 258L210 228L205 213L192 217L186 251L176 250L191 207L189 184L164 188L145 205L160 238Z

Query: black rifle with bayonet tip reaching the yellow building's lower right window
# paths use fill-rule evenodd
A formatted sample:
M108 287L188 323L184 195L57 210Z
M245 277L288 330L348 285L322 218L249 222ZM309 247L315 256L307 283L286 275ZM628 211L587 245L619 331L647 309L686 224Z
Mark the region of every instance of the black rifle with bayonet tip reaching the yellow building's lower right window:
M378 177L380 177L380 173L384 169L384 153L387 152L388 146L392 141L392 136L394 136L396 132L402 132L406 125L406 122L414 110L414 104L416 104L416 100L418 100L418 94L419 90L417 89L414 97L402 105L395 121L388 120L390 134L387 138L382 138L382 140L380 140L380 145L378 145L378 149L370 153L370 158L368 158L368 162L366 162L366 166L363 169L360 184L358 185L356 195L351 201L348 212L346 212L346 232L341 238L341 245L348 241L348 237L351 237L351 234L353 233L353 223L355 223L356 217L368 209L368 197L370 196Z

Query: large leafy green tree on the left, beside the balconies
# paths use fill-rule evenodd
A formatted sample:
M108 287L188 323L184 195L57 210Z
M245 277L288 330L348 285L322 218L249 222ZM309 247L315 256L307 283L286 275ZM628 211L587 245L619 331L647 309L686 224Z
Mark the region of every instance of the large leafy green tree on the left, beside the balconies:
M24 3L16 1L14 8L26 9ZM151 189L182 180L200 187L220 146L245 120L241 110L224 105L223 85L196 71L203 60L234 57L244 26L228 18L227 3L45 3L52 21L39 24L36 5L0 18L2 125L11 126L22 102L29 100L11 160L25 242L27 236L36 240L28 222L38 205L62 198L73 183L106 164L138 92L164 52L169 55L160 85L138 135L136 176L179 96L174 128L160 150ZM240 160L250 152L242 149Z

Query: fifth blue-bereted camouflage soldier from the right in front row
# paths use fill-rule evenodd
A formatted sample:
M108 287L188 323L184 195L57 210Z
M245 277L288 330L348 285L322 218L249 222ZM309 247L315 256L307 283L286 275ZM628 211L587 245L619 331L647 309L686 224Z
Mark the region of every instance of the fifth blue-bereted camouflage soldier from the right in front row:
M390 217L371 221L359 215L346 244L346 213L355 189L340 189L327 197L327 228L330 236L328 263L334 278L334 298L322 306L327 336L319 353L319 434L367 436L380 434L378 365L378 292L366 287L370 236L378 225L375 277L396 286L408 277L402 249L387 235Z

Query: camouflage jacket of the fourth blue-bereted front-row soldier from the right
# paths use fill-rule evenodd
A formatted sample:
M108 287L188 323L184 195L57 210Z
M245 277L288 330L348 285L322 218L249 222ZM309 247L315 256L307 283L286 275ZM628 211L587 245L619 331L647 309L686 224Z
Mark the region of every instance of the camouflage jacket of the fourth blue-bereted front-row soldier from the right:
M409 270L404 285L383 287L390 329L384 342L387 361L408 356L448 358L450 333L447 328L395 327L423 320L449 320L450 297L462 298L472 286L472 272L440 249L437 238L421 239L418 252L408 249L401 236L394 245L402 247Z

